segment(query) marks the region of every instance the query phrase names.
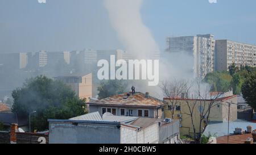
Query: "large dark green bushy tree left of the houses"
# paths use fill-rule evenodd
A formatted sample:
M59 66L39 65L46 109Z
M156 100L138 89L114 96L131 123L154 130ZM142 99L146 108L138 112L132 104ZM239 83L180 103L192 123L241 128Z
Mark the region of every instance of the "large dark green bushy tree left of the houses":
M47 119L69 119L86 113L86 99L79 99L63 82L45 76L27 79L12 95L12 111L23 116L36 111L31 127L40 131L48 129Z

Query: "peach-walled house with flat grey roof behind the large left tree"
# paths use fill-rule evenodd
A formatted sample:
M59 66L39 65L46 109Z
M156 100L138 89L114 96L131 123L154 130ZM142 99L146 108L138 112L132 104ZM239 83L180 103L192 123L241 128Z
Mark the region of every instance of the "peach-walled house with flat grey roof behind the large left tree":
M66 74L55 77L70 86L79 98L92 97L92 73L89 74Z

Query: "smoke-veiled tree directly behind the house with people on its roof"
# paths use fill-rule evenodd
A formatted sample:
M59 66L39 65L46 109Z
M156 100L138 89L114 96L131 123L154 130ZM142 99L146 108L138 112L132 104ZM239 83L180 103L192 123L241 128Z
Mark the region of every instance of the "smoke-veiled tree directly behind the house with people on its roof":
M120 80L105 80L101 81L98 86L98 99L107 98L112 95L125 93L126 83Z

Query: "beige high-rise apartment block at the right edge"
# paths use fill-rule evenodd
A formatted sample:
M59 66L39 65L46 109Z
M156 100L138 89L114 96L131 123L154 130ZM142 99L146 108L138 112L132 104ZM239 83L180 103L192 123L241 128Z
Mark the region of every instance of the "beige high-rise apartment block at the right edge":
M230 40L216 40L216 70L228 70L236 66L256 66L256 45L238 43Z

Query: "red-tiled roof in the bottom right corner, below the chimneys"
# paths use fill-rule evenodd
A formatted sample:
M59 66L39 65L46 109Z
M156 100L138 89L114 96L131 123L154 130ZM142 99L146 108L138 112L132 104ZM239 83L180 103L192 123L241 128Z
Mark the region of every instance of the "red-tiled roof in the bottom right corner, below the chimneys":
M229 143L228 136L217 137L217 144L245 144L249 137L253 138L253 134L232 135L229 136Z

